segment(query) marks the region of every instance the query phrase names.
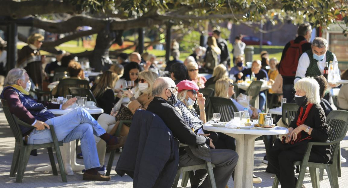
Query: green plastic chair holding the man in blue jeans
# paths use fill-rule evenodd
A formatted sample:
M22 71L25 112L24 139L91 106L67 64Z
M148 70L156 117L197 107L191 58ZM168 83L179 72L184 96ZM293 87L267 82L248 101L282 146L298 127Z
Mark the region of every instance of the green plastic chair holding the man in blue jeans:
M25 127L31 127L31 128L33 126L19 120L15 115L13 115L8 109L8 103L6 100L1 99L1 103L2 103L2 107L5 113L6 119L8 121L8 124L16 139L15 150L13 153L12 165L10 170L10 177L15 177L17 172L16 182L21 183L24 176L25 169L26 169L26 165L29 160L31 150L40 149L40 148L47 148L49 160L52 166L53 175L58 175L56 163L54 161L53 150L52 150L52 147L54 147L56 150L56 156L57 156L57 160L59 164L59 169L61 171L62 181L67 182L61 150L59 148L59 146L63 146L63 143L58 142L56 133L54 132L54 127L50 125L50 131L52 133L52 138L53 138L52 143L27 145L23 141L23 135L19 125L22 125Z

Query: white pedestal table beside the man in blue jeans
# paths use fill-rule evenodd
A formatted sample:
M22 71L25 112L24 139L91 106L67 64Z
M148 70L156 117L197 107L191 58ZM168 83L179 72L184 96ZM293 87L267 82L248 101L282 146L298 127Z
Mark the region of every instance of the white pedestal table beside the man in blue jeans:
M60 110L60 109L50 109L50 111L54 114L54 115L64 115L66 113L71 112L72 110L74 110L74 108L68 108L65 110ZM93 108L87 108L86 109L88 111L88 113L90 114L100 114L103 113L104 110L102 108L97 108L97 107L93 107ZM82 171L85 169L84 165L80 165L76 163L76 141L71 141L69 143L64 143L63 146L61 146L61 152L62 152L62 157L63 157L63 162L64 162L64 166L65 169L67 169L69 166L71 166L72 171ZM56 164L58 165L58 163ZM57 167L57 169L59 169ZM42 166L42 167L38 167L36 168L34 171L39 171L39 172L46 172L46 171L52 171L52 167L51 165L48 166ZM73 175L70 174L69 172L65 172L68 175Z

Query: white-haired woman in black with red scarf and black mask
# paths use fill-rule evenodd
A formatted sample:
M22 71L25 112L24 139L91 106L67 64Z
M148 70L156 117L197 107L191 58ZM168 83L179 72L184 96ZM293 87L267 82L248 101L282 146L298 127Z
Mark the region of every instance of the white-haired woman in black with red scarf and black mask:
M313 78L302 78L296 82L295 90L295 100L300 108L289 125L286 137L275 141L268 160L282 188L295 187L297 179L293 162L302 160L308 142L326 142L329 137L329 127L320 105L318 82ZM327 163L330 154L329 146L313 146L309 162Z

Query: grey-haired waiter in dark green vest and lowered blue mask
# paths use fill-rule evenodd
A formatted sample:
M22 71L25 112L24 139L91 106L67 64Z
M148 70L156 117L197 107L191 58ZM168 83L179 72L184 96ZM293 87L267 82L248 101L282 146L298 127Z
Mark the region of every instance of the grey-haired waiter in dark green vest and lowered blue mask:
M304 52L297 65L294 84L304 77L317 77L323 75L326 62L336 62L335 54L330 52L327 40L317 37L312 42L312 49Z

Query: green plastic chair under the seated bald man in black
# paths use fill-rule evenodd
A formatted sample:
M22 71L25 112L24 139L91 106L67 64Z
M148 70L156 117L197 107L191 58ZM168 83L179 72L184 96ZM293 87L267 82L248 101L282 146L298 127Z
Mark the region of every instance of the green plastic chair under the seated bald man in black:
M183 143L180 143L180 147L184 147L186 150L190 149L187 144L183 144ZM214 173L213 173L213 168L214 167L215 167L214 164L212 164L211 162L207 162L207 161L205 161L205 164L180 167L176 171L176 176L175 176L172 188L176 188L177 187L177 184L179 182L181 173L189 172L190 177L193 177L193 171L194 170L200 170L200 169L206 169L207 170L208 178L209 178L210 183L211 183L211 187L212 188L216 188L216 183L215 183L215 178L214 178ZM183 178L182 178L181 181L182 181L181 187L186 187L187 181L188 181L187 175L185 175L185 176L183 175ZM185 183L183 183L183 182L185 182Z

